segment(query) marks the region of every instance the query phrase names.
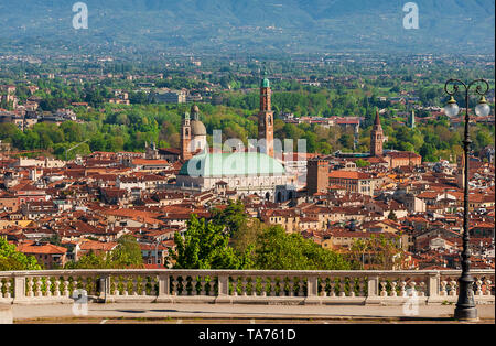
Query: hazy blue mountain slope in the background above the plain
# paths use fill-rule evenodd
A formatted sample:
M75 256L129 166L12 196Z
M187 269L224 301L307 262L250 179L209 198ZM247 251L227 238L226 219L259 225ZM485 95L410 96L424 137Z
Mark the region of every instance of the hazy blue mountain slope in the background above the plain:
M84 0L89 29L74 30L76 0L0 0L0 53L61 48L209 53L492 53L494 0Z

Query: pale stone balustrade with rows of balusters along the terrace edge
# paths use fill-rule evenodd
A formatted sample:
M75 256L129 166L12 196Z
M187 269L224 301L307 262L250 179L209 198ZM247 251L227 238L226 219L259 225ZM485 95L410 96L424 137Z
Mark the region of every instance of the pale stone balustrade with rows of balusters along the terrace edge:
M473 270L477 304L494 304L493 270ZM94 302L419 304L454 303L456 270L51 270L0 272L0 303Z

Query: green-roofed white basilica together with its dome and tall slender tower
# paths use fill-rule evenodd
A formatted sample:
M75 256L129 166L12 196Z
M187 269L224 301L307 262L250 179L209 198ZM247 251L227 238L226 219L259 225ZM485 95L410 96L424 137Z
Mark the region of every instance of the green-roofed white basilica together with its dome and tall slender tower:
M242 197L258 195L281 202L294 195L296 176L287 172L283 163L274 159L273 111L271 110L270 82L260 84L260 111L258 113L258 143L255 151L222 152L205 150L206 130L200 111L193 106L184 116L181 128L181 159L185 161L176 176L176 187L211 191L223 190Z

